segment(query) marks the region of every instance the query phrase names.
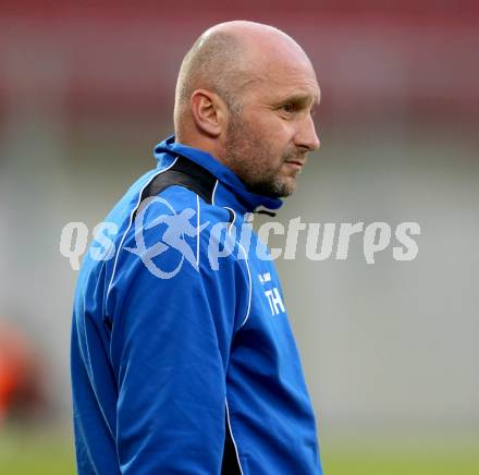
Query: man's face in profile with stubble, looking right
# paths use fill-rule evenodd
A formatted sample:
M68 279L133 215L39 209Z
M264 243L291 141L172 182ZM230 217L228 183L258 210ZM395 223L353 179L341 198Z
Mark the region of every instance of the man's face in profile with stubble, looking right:
M312 112L320 92L308 62L270 68L245 92L228 124L224 162L251 192L288 196L306 154L319 147Z

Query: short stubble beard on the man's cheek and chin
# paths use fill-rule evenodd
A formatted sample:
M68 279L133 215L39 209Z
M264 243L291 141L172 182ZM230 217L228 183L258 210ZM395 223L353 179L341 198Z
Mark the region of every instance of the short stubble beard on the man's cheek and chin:
M296 174L284 176L281 168L296 151L286 151L279 166L272 167L273 147L241 118L232 114L228 124L224 162L256 194L269 197L290 196L296 188Z

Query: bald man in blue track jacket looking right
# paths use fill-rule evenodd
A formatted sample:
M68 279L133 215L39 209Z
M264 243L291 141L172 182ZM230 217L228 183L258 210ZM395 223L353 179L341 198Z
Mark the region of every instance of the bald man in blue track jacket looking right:
M245 222L294 192L319 99L307 56L271 26L223 23L186 54L175 135L78 277L78 474L321 474L280 281Z

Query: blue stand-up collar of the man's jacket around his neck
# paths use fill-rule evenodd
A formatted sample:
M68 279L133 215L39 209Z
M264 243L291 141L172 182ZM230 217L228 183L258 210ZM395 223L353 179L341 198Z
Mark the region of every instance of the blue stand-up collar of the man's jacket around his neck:
M254 211L259 206L269 209L278 209L283 202L279 198L271 198L249 192L240 178L228 167L217 160L207 151L193 148L174 142L174 135L169 136L155 147L155 158L161 166L163 155L180 155L185 157L212 173L225 187L228 187L235 196L237 202L243 205L246 212Z

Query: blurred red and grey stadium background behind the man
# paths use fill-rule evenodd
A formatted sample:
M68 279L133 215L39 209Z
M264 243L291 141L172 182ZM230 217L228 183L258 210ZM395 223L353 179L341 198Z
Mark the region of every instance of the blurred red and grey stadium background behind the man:
M421 227L413 261L367 265L360 239L346 260L299 239L278 261L326 473L478 474L471 0L0 0L0 474L74 473L61 230L91 230L155 166L183 54L233 19L295 37L322 88L322 147L279 219Z

